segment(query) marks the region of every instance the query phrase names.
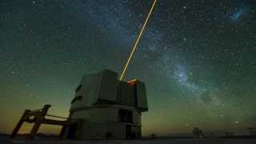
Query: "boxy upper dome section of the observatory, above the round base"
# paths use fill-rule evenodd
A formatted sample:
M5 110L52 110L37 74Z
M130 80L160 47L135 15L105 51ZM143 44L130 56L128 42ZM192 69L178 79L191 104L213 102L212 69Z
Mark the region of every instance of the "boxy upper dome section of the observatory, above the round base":
M147 111L145 84L138 80L133 84L118 81L117 76L117 73L110 70L83 76L74 97L81 99L72 101L71 109L105 102L134 106L141 112Z

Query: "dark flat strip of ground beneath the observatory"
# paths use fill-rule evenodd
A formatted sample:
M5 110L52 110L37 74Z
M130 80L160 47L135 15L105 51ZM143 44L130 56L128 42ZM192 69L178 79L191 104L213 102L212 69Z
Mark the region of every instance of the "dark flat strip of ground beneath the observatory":
M144 139L144 140L104 140L104 141L67 141L67 140L56 140L56 139L34 139L26 141L24 139L14 139L10 140L9 138L2 137L0 138L1 144L25 144L25 143L35 143L35 144L103 144L103 143L113 143L113 144L255 144L256 138L156 138L156 139Z

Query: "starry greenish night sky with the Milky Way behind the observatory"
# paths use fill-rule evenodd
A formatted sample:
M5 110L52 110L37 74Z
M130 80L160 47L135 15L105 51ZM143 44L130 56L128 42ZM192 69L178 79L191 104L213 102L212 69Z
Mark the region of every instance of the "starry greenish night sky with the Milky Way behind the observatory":
M120 73L152 2L1 0L0 132L44 103L67 117L83 74ZM254 0L158 0L125 78L146 83L142 132L247 134L256 127L255 46Z

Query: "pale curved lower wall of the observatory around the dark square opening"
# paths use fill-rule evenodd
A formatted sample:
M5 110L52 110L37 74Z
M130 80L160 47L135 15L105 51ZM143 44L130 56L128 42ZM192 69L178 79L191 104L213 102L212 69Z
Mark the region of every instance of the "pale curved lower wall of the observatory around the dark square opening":
M118 122L119 109L131 110L133 122ZM115 105L74 110L70 118L80 122L74 134L74 138L77 139L105 139L107 133L112 135L111 138L124 139L127 125L136 126L139 130L141 127L141 114L130 106ZM140 133L140 131L138 132Z

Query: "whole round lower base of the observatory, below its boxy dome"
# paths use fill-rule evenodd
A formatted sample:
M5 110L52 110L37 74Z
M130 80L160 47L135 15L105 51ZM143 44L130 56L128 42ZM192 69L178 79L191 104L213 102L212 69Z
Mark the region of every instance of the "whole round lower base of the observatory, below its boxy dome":
M130 111L131 122L121 118L120 110ZM64 138L70 139L136 139L141 138L141 115L131 106L90 107L71 112L77 125L66 128ZM71 121L71 122L72 122Z

